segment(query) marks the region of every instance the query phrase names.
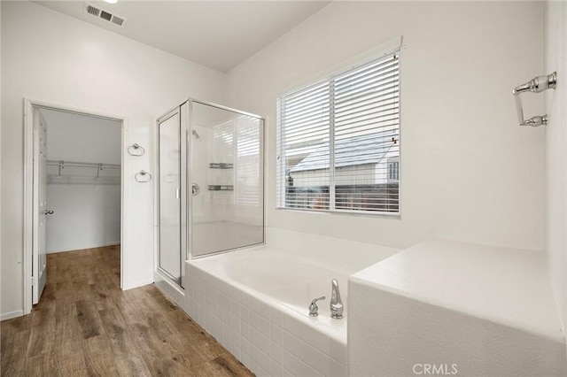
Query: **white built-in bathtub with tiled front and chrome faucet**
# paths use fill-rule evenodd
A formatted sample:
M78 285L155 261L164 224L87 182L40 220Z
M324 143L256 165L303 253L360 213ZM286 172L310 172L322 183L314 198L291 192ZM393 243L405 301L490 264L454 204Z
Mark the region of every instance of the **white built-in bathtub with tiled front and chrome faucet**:
M344 250L344 240L323 241L328 247L315 240L319 247L308 250L304 239L303 248L268 245L187 261L182 307L258 376L346 376L348 276L398 250L360 242ZM344 319L330 318L332 279ZM327 297L319 316L309 317L319 296Z

